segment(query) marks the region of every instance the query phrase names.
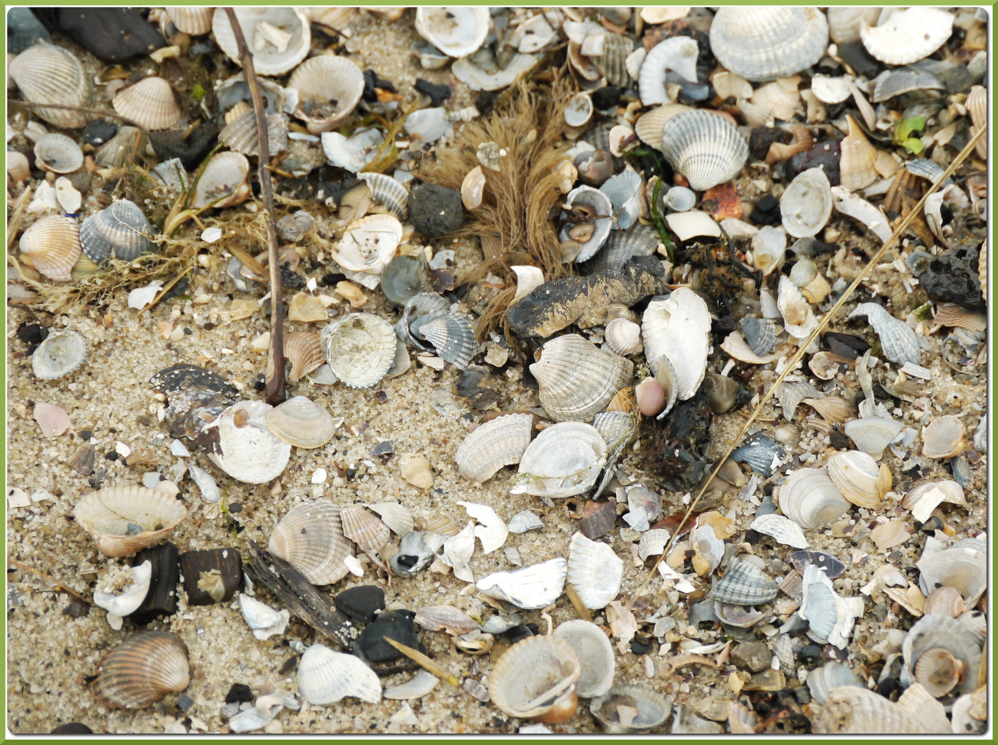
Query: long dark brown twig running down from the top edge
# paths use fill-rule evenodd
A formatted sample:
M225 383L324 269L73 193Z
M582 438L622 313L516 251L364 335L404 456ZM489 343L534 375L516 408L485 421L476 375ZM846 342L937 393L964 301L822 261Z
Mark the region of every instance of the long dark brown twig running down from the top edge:
M252 67L252 53L247 46L243 28L233 8L226 8L229 23L233 27L236 43L240 48L240 62L243 74L252 96L252 108L256 114L256 142L259 144L259 192L263 196L263 206L269 219L266 232L269 237L267 255L270 270L270 349L273 354L273 376L266 381L266 403L276 406L284 400L284 336L283 308L280 304L280 256L277 255L277 216L273 209L273 188L270 186L270 143L267 140L266 114L263 111L263 98L259 93L256 73Z

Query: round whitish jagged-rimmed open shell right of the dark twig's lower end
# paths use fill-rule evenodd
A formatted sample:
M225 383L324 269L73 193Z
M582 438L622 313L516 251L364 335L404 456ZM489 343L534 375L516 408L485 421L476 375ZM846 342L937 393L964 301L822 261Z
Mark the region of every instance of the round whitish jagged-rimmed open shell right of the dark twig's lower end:
M372 313L349 313L333 321L322 329L319 341L332 372L350 388L377 385L395 361L395 331Z

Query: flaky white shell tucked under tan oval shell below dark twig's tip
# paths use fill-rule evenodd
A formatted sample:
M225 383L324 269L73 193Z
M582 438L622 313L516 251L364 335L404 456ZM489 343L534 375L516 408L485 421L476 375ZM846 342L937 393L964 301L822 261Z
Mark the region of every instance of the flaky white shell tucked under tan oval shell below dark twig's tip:
M266 484L280 476L291 446L267 429L272 409L261 401L241 401L223 410L204 429L218 436L208 454L212 463L244 484Z

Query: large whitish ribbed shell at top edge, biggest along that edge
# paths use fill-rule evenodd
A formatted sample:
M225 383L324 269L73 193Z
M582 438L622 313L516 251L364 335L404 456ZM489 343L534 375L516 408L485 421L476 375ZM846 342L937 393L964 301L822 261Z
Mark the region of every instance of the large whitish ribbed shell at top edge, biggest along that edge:
M806 70L827 46L828 22L817 8L721 8L711 24L718 62L754 83Z

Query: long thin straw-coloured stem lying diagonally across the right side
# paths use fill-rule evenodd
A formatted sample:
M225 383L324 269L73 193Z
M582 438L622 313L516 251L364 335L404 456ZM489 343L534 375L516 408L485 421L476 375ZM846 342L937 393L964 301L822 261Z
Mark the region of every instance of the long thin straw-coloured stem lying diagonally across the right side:
M859 274L856 276L856 278L852 280L852 284L850 284L848 289L846 289L845 292L842 293L842 296L838 298L838 301L831 306L831 309L824 314L820 322L817 324L817 327L813 331L811 331L810 336L808 336L806 340L800 342L800 344L797 346L797 351L793 353L793 356L790 358L789 362L786 363L786 366L783 368L783 372L781 372L779 376L776 378L776 381L769 388L769 391L764 396L762 396L761 401L758 402L758 405L752 411L751 415L749 416L749 419L746 421L744 425L742 425L742 429L739 431L739 434L732 439L731 444L728 446L728 450L726 450L725 454L718 459L718 465L714 467L714 471L712 471L711 475L704 481L704 486L701 488L700 492L697 493L697 499L695 499L690 504L690 509L687 510L686 515L683 516L683 520L680 521L680 525L676 529L676 533L669 537L669 541L666 543L666 548L662 552L662 555L659 557L659 559L656 560L655 565L652 566L651 571L649 571L648 575L645 577L645 580L641 583L641 586L638 587L634 595L631 597L631 600L628 602L628 609L633 607L635 600L637 600L641 596L642 591L644 591L645 587L648 585L648 582L651 580L652 576L655 575L656 570L659 568L659 564L662 563L662 559L665 559L667 556L669 556L669 551L670 549L672 549L673 544L676 542L676 537L680 535L680 532L683 530L683 526L686 525L687 521L690 519L690 516L693 515L693 511L697 508L697 503L699 503L701 497L703 497L707 493L708 486L715 478L717 478L718 474L721 472L722 466L724 466L725 461L727 461L728 457L735 451L736 446L740 442L742 442L742 438L745 437L746 433L749 431L749 427L751 426L752 422L755 421L759 413L762 411L762 407L765 406L766 401L772 398L772 394L776 392L776 389L779 387L779 384L783 382L783 379L790 374L790 371L793 370L793 368L796 367L797 363L800 362L800 360L803 358L804 351L807 349L807 347L809 347L811 343L817 339L818 334L820 334L824 330L824 328L828 325L828 322L835 316L835 314L839 311L842 305L845 304L845 301L852 296L852 293L856 291L856 288L859 286L859 284L863 281L863 279L866 278L866 275L869 274L870 269L876 266L877 262L880 260L880 257L883 256L883 254L886 253L887 249L900 238L901 233L903 233L907 229L908 225L911 224L912 220L914 220L916 216L921 214L922 210L925 208L925 201L929 198L929 196L931 196L936 191L936 189L939 188L939 186L942 186L946 182L946 180L949 177L951 177L953 173L960 167L960 164L962 164L967 159L967 157L974 152L974 148L977 147L977 143L980 142L981 138L984 136L984 132L985 130L982 128L980 132L978 132L976 135L974 135L974 137L970 139L970 142L967 143L966 147L962 151L960 151L960 155L958 155L956 158L953 159L953 163L949 165L949 168L947 168L946 171L943 172L943 175L941 177L935 180L935 183L929 187L929 190L925 192L921 200L919 200L919 202L915 204L914 209L908 212L908 215L901 220L901 223L897 226L897 228L894 230L891 236L887 238L883 242L883 245L880 246L879 250L877 250L877 252L870 257L870 260L866 262L865 266L863 266L862 271L860 271Z

